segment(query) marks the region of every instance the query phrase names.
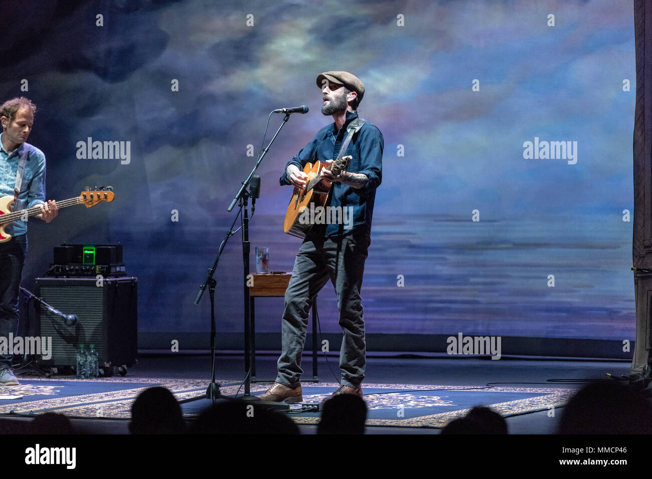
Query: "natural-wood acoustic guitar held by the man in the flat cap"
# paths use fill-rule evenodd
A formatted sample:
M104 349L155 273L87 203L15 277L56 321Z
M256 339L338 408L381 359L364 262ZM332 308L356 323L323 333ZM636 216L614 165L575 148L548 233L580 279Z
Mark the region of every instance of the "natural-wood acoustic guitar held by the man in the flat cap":
M303 210L306 208L309 209L311 203L314 203L314 207L325 207L328 201L329 190L331 190L332 183L323 179L321 176L323 169L330 169L333 175L339 176L349 167L351 158L353 156L343 156L334 160L331 164L326 164L321 161L315 164L306 163L306 166L303 167L303 172L308 175L308 182L303 189L295 186L289 200L283 231L297 238L306 237L306 234L312 228L312 224L310 222L302 224L299 220L301 214L303 214Z

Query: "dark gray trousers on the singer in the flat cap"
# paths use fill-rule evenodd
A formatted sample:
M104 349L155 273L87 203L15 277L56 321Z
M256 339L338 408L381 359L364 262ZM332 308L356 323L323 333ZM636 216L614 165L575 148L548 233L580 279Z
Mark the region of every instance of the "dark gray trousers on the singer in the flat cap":
M304 239L285 294L281 327L283 351L278 358L277 383L291 387L299 385L308 312L314 297L329 279L335 287L339 323L344 333L340 349L342 385L357 388L362 383L366 348L360 289L370 242L364 230L354 230L335 240L319 234L309 234Z

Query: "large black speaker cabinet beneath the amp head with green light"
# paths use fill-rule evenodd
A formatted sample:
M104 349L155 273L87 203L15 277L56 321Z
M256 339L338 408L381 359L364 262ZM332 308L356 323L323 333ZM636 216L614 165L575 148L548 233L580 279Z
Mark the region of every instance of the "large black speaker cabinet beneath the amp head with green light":
M64 320L38 302L35 332L52 338L52 357L44 366L76 366L80 344L95 345L100 368L132 366L138 352L138 278L36 278L36 295L77 324Z

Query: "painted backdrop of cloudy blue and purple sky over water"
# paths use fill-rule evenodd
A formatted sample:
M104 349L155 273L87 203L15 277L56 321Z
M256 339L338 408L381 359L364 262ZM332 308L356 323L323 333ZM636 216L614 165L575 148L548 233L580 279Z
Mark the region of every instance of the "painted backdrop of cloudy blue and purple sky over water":
M208 297L193 302L253 166L248 145L258 152L271 109L310 107L259 169L250 224L252 246L289 271L299 240L282 233L278 177L332 121L316 76L348 70L385 136L368 333L633 339L630 1L45 4L3 2L0 90L38 105L30 141L48 159L48 198L111 184L116 199L32 222L25 284L56 244L119 241L139 330L207 330ZM129 164L78 158L89 137L130 141ZM576 141L576 164L524 158L535 138ZM242 329L238 240L216 274L222 332ZM320 298L323 330L337 332L333 288ZM258 330L276 332L282 300L267 301Z

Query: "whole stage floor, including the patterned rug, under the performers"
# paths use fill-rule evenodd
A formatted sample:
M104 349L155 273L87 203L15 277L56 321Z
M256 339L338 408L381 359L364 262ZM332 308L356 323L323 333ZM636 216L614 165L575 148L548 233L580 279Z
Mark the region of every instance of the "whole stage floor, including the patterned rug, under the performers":
M256 378L273 381L277 353L261 353ZM321 355L319 383L312 379L312 362L304 357L304 402L315 403L338 385L338 358ZM138 364L126 377L77 381L70 377L22 377L20 386L5 386L0 394L23 393L22 399L0 400L5 427L22 429L30 414L65 413L75 426L89 433L128 433L130 404L143 388L164 385L179 399L198 396L208 385L208 355L141 351ZM329 368L330 366L330 368ZM554 433L561 407L587 379L629 374L629 362L551 360L541 358L418 357L413 354L368 355L363 392L369 413L368 434L437 434L453 418L475 405L488 405L506 417L509 433ZM237 353L222 352L216 358L216 377L223 394L232 395L244 379L244 360ZM573 381L576 380L576 381ZM252 383L252 394L261 394L271 383ZM243 394L244 388L239 390ZM183 405L192 420L209 405L201 399ZM10 414L10 412L12 414ZM296 411L295 411L296 412ZM304 434L316 433L318 413L291 414Z

